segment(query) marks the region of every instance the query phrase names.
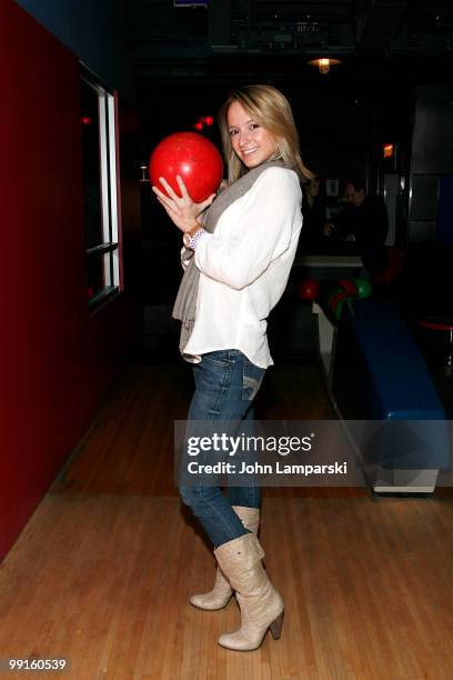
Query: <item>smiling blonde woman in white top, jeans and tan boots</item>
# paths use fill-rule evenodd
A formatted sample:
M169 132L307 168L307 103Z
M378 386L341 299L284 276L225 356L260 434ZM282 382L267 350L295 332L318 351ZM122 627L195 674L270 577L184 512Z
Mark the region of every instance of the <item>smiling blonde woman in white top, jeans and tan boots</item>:
M291 108L271 86L232 92L220 111L228 187L194 203L181 178L181 198L164 178L159 201L183 232L183 259L192 257L173 316L181 319L181 351L194 363L191 421L253 418L252 403L271 366L266 317L285 288L302 226L304 167ZM215 200L214 200L215 198ZM208 208L209 207L209 208ZM208 210L207 210L208 208ZM233 591L241 628L223 634L229 649L256 649L268 629L280 637L283 600L262 567L256 538L256 486L180 487L182 500L214 546L214 588L193 596L202 609L221 609Z

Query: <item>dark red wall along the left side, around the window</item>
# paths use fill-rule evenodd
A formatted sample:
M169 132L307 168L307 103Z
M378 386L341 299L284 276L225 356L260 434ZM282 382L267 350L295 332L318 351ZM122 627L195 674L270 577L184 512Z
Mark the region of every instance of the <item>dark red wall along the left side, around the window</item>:
M0 3L0 559L90 424L128 343L88 313L77 58Z

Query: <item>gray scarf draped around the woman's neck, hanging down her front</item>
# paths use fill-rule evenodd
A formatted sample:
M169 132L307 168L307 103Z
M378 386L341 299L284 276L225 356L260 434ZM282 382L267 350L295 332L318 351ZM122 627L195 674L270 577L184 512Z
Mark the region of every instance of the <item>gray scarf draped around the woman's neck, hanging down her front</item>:
M234 203L234 201L244 196L252 188L260 174L264 172L264 170L273 167L291 169L291 166L284 161L269 160L261 163L261 166L258 166L258 168L249 170L249 172L240 177L233 184L222 191L222 193L214 199L205 212L203 212L201 219L203 229L210 233L213 233L224 210ZM200 270L195 266L193 252L188 251L184 253L183 259L190 259L190 262L185 268L173 307L173 319L179 319L182 321L180 339L181 353L189 342L189 338L193 330L200 280Z

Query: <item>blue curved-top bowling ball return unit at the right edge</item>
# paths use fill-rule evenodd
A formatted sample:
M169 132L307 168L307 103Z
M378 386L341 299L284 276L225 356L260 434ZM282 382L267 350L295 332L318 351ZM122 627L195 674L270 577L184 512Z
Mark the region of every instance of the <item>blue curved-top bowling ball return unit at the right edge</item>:
M336 329L331 392L345 420L360 420L365 463L399 470L450 464L445 412L424 358L395 304L354 300Z

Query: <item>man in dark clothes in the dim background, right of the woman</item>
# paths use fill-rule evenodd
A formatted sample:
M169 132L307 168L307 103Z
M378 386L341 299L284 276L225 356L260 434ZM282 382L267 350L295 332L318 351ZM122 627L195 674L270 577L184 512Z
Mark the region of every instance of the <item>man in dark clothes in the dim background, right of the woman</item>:
M340 213L324 224L324 234L355 240L362 258L364 273L370 278L382 274L387 268L385 238L389 217L382 199L368 196L365 183L360 178L345 183L345 206Z

